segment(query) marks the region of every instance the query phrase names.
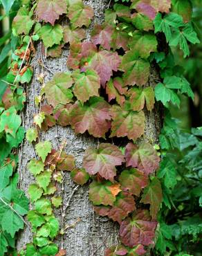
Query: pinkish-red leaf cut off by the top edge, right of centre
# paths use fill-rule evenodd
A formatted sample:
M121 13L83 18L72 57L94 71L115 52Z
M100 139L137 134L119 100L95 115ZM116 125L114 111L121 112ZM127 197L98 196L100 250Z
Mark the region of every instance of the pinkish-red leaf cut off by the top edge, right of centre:
M169 12L171 0L135 0L131 8L143 13L149 19L154 19L157 12Z

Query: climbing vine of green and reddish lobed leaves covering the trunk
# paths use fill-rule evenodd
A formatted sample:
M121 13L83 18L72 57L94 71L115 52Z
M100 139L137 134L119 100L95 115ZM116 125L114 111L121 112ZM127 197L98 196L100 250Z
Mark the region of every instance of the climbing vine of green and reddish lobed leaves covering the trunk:
M0 255L8 247L15 248L25 214L32 224L33 241L19 254L66 255L53 241L65 232L53 208L60 208L64 219L68 205L63 205L57 188L66 171L78 185L90 183L89 199L97 214L120 224L120 244L107 248L106 256L144 255L154 244L163 200L156 176L160 147L144 134L145 116L169 103L179 107L181 93L194 97L174 63L172 46L179 46L187 57L188 44L199 39L189 0L115 2L106 10L102 25L91 25L93 9L81 0L23 0L13 20L12 33L21 42L12 53L0 108ZM65 26L59 24L63 17L68 18ZM91 33L91 40L86 33ZM68 71L46 83L39 76L38 111L33 127L26 131L26 140L35 150L35 158L28 162L35 177L28 188L33 205L28 211L28 199L17 189L23 177L15 169L19 163L21 174L17 147L25 131L19 112L26 102L26 86L33 76L30 60L39 40L46 57L59 57L64 45L70 53ZM150 81L152 70L159 73L155 84ZM66 154L65 142L53 149L49 141L40 140L40 132L55 125L71 125L76 134L87 132L102 140L98 147L86 149L82 169L75 167L74 156ZM167 135L160 135L163 147L169 143Z

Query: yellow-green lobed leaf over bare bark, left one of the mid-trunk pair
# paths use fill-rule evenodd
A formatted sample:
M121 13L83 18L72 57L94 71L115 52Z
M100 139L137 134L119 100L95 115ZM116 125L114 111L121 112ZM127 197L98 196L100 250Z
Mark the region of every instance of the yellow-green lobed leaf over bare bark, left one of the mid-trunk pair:
M71 102L73 93L69 89L73 84L73 79L69 73L57 73L53 79L46 83L44 92L48 103L53 107L57 104Z

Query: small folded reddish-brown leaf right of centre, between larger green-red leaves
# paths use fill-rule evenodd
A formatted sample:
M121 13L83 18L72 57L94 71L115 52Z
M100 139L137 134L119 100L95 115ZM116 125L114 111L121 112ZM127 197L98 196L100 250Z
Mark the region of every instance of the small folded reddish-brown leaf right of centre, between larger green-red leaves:
M116 77L109 80L106 86L106 93L108 94L108 101L116 99L118 104L122 106L125 103L125 96L127 95L127 87L124 87L121 77Z

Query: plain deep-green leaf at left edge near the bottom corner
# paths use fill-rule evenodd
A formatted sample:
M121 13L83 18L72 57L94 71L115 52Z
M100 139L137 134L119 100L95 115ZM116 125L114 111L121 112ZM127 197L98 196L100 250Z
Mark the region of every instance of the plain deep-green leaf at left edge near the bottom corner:
M8 208L1 218L1 226L11 237L15 237L15 233L24 228L24 222L13 210Z

